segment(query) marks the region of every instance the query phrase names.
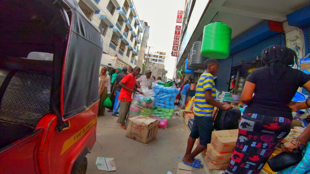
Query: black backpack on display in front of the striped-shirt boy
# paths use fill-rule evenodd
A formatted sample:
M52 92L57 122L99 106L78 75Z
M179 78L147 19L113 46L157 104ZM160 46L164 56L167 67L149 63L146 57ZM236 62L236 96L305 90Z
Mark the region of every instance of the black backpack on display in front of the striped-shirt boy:
M215 130L231 130L237 129L239 120L241 118L241 111L237 108L230 108L226 111L219 109L217 115L214 117Z

